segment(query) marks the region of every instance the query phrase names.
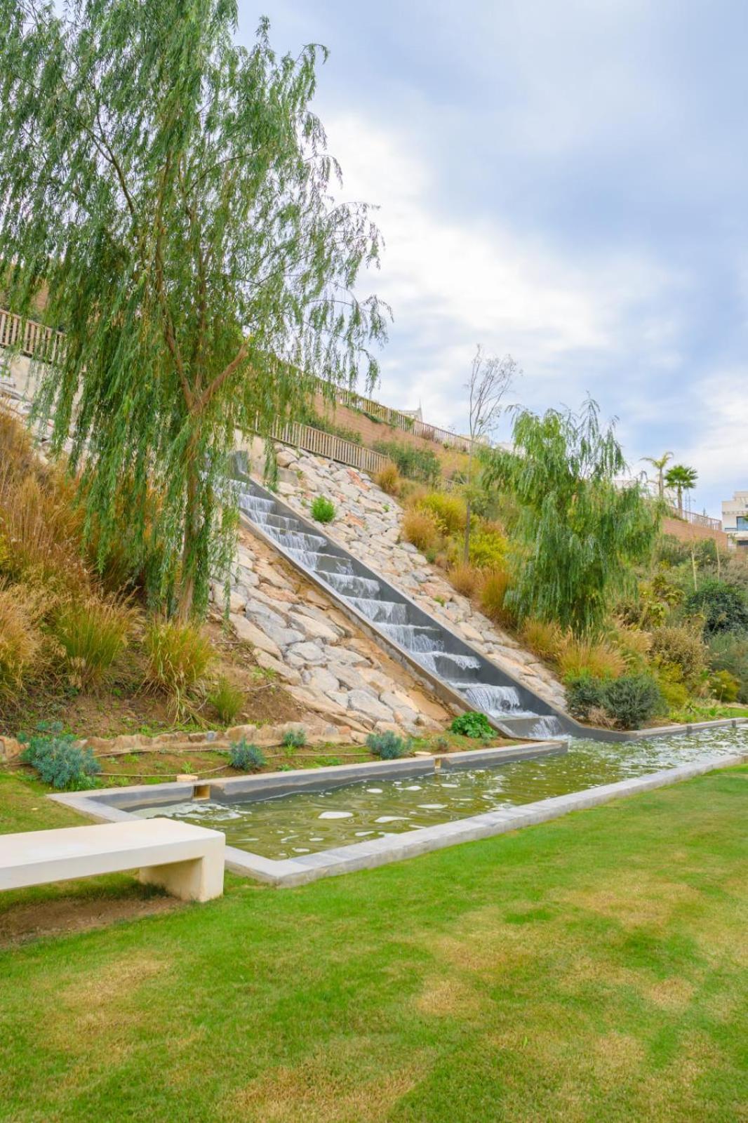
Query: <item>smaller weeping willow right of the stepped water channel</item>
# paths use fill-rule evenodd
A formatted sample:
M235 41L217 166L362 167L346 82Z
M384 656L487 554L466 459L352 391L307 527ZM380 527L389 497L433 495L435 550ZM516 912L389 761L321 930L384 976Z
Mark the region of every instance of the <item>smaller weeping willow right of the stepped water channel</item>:
M578 414L522 410L514 451L487 455L484 481L518 504L517 551L505 604L522 620L554 620L576 634L595 632L612 602L631 590L633 566L649 558L659 509L626 471L613 426L602 429L595 402Z

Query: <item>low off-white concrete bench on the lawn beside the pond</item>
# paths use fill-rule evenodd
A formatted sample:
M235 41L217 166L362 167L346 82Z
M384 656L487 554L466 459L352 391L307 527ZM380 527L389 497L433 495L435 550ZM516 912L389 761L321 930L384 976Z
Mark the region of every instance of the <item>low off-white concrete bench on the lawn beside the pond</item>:
M220 831L174 819L0 834L0 889L139 869L140 880L183 901L224 892Z

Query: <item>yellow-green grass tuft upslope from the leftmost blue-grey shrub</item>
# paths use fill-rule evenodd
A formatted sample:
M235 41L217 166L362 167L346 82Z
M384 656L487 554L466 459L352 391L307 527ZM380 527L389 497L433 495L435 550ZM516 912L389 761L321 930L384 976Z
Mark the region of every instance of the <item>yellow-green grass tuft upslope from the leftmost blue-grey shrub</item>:
M129 628L130 613L119 604L90 600L63 609L54 633L71 682L81 690L98 685L124 650Z

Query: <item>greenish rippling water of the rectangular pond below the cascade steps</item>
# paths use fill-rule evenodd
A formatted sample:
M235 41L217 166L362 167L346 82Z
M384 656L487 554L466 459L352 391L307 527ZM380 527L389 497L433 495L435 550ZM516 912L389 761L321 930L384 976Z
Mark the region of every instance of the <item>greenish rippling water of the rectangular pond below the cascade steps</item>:
M232 795L229 782L225 791L213 787L208 800L154 802L128 811L140 819L159 815L221 830L230 847L273 862L304 861L322 851L340 852L357 843L512 812L664 769L744 754L748 754L748 725L636 742L572 740L566 754L492 767L460 768L456 755L445 758L436 772L432 763L425 764L422 775L411 768L402 776L374 774L345 785L320 776L317 787L310 787L313 778L307 774L303 791L270 797L262 791Z

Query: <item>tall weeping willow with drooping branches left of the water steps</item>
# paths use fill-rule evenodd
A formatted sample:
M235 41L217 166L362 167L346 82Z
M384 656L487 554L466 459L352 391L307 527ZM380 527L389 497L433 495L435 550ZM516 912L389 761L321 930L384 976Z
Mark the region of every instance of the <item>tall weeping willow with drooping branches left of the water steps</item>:
M65 331L36 402L86 530L186 618L232 539L226 453L371 386L378 231L336 202L310 111L325 48L237 46L235 0L0 0L0 291ZM155 560L154 560L155 559Z

